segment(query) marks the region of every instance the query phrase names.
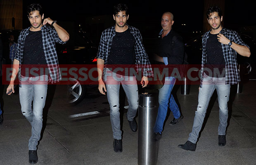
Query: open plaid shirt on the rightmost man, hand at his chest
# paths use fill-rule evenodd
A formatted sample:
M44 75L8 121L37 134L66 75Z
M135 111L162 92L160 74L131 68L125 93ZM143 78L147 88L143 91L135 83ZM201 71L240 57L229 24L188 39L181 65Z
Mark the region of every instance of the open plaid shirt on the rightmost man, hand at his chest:
M211 30L210 30L211 31ZM203 40L202 40L202 63L201 63L201 82L200 82L200 87L202 87L202 82L204 80L204 66L206 64L206 41L209 38L209 33L210 31L204 33L203 35ZM238 33L236 31L232 31L226 28L222 28L222 30L220 31L221 34L223 34L226 38L228 38L229 40L231 40L232 42L235 42L238 45L242 45L242 46L247 46L242 39L240 38L240 36L238 35ZM233 50L230 46L225 45L225 44L221 44L222 47L222 52L224 55L224 59L225 59L225 79L226 82L225 84L237 84L238 82L240 82L240 76L239 76L239 71L237 68L237 52L235 50Z

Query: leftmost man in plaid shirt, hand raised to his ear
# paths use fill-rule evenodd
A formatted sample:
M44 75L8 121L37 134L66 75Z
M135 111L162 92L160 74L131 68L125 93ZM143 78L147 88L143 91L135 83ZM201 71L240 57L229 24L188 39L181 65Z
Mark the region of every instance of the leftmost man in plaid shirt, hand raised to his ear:
M58 67L55 42L66 43L69 33L56 21L44 19L40 4L31 4L27 8L28 19L31 26L21 31L18 39L16 56L13 61L13 72L6 93L14 93L14 80L19 72L19 97L21 112L32 126L31 138L28 141L29 163L37 163L37 145L43 125L43 108L47 94L48 74L40 72L34 74L24 66L33 66L40 70L47 66L50 82L58 82L60 71ZM52 27L46 24L52 25ZM44 67L42 67L44 68ZM31 103L33 100L33 111Z

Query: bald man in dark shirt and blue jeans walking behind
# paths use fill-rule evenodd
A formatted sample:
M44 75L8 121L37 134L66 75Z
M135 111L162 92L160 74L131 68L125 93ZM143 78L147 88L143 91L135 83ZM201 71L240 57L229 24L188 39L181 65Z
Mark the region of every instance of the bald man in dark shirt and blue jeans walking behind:
M173 31L173 14L165 12L161 18L162 30L159 33L158 49L155 53L155 61L164 65L161 68L168 68L168 74L165 74L164 85L159 89L159 108L154 125L155 139L160 140L162 137L164 120L166 118L167 109L173 112L173 120L169 125L176 125L183 119L179 107L176 104L171 91L175 84L176 78L171 76L173 65L183 64L184 61L184 44L180 35Z

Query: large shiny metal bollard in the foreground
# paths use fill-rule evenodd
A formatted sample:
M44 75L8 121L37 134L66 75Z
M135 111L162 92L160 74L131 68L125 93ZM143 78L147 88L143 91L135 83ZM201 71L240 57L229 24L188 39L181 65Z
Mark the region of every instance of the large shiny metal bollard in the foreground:
M156 165L159 141L155 141L156 99L152 94L140 94L138 125L138 165Z

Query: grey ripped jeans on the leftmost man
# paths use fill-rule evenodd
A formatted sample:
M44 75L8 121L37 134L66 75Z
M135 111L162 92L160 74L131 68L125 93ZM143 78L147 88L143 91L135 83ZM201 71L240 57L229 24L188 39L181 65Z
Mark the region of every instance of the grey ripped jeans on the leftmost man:
M38 80L37 80L38 79ZM28 149L36 150L43 126L43 108L47 94L47 75L41 75L35 78L21 78L21 87L19 88L19 101L21 112L32 126L31 137L28 141ZM32 110L33 101L33 110Z

